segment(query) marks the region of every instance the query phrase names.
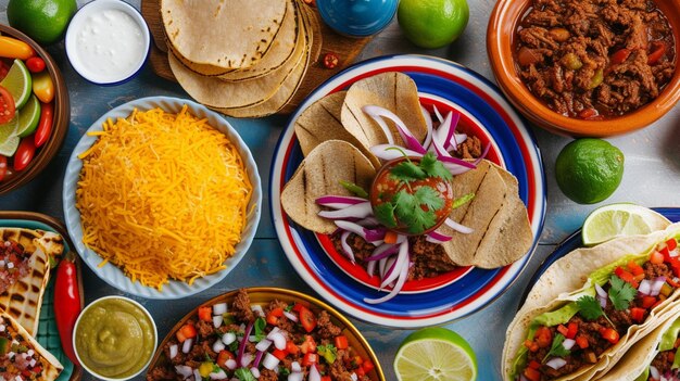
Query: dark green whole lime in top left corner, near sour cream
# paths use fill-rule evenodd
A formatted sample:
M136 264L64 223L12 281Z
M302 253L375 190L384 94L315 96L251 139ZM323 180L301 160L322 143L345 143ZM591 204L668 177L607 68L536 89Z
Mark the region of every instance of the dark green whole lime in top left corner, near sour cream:
M40 45L56 42L76 13L76 0L10 0L10 25Z

